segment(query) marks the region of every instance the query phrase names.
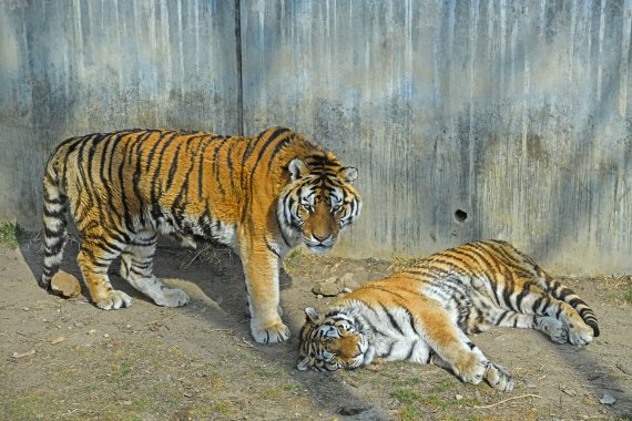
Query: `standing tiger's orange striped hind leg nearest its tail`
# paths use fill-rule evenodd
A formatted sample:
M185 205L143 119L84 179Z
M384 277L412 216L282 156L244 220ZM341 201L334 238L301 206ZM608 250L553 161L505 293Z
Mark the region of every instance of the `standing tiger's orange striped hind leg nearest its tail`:
M83 280L90 290L90 297L96 307L103 310L118 310L121 307L130 307L132 298L123 291L112 288L108 277L108 268L119 256L114 247L106 250L101 242L83 240L81 250L77 256L77 264L83 275Z

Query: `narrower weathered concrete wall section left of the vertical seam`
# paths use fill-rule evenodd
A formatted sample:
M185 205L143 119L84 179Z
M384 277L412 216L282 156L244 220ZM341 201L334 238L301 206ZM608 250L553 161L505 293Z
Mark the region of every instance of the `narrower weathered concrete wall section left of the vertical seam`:
M0 0L0 219L41 227L63 138L125 127L241 131L235 4Z

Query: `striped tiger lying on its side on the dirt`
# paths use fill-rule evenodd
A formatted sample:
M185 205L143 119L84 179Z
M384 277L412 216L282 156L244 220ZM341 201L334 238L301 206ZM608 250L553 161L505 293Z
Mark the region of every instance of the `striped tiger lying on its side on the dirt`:
M491 326L537 329L555 343L599 336L593 310L508 243L475 242L370 281L320 316L306 308L297 368L354 369L376 359L435 363L469 383L513 389L466 333Z

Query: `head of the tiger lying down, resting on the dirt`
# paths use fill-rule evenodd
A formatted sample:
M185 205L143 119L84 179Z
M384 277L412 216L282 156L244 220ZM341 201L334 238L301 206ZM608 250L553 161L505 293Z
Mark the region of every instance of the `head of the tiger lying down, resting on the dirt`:
M305 309L305 315L296 366L298 370L313 368L336 371L365 364L368 340L356 330L350 317L337 311L322 317L312 307Z

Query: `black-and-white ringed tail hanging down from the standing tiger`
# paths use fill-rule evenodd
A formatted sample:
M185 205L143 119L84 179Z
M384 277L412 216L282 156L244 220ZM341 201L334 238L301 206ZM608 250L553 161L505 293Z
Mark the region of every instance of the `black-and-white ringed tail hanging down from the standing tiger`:
M44 270L39 281L44 289L50 288L52 277L59 271L68 238L68 196L62 189L62 179L55 153L44 172Z

